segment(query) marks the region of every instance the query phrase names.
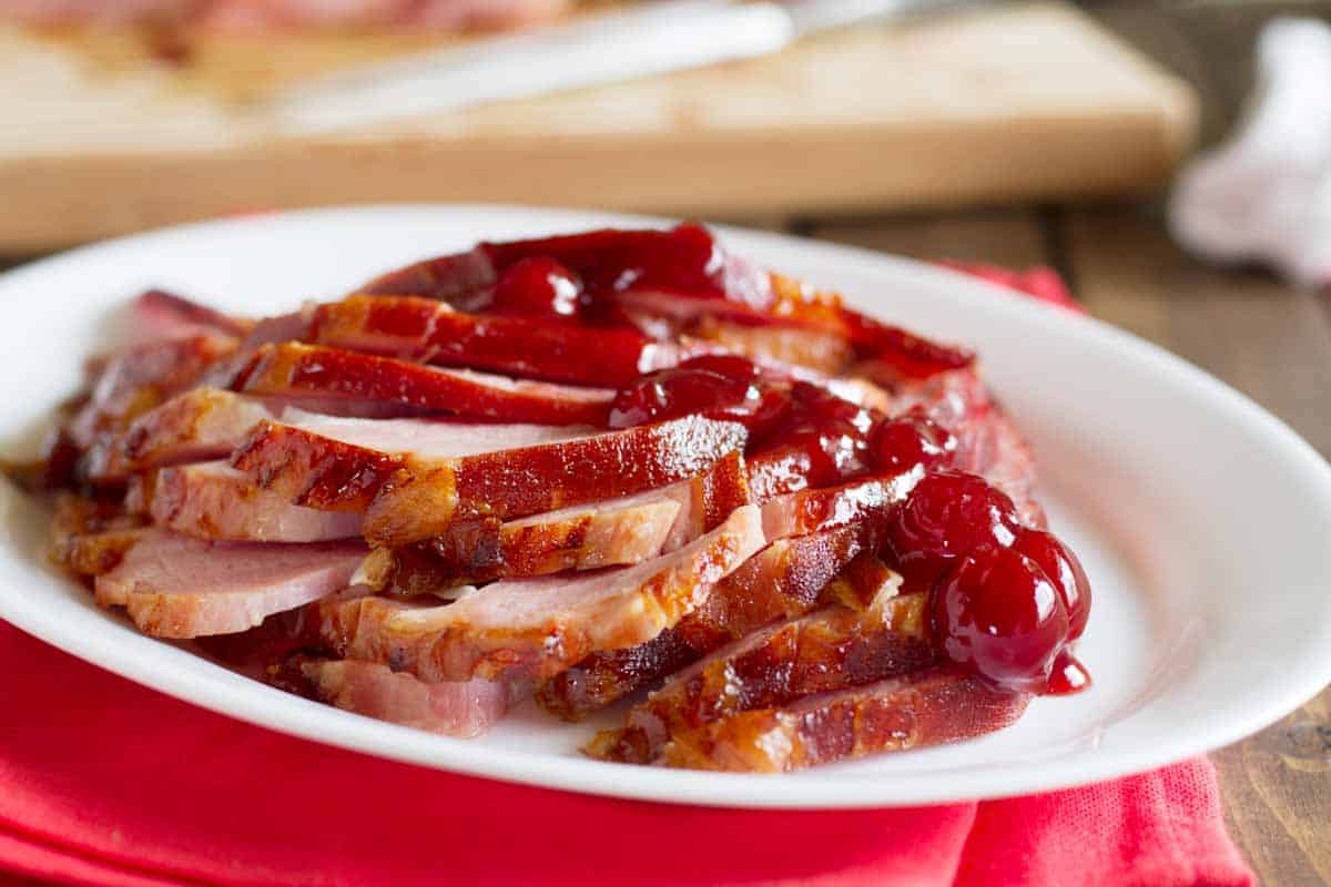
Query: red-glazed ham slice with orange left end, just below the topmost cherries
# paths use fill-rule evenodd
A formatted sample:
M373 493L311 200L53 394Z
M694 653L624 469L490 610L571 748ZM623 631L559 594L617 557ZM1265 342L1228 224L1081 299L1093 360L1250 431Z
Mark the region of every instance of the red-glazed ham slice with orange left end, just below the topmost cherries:
M410 297L354 295L314 309L307 340L446 367L619 388L681 350L626 328L454 311Z

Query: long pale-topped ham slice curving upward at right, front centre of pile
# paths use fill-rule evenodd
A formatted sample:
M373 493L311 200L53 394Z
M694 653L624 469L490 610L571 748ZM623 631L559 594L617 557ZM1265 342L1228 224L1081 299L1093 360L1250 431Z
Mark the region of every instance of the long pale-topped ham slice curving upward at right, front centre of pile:
M442 606L378 597L331 602L321 608L322 622L349 658L426 681L542 680L596 650L656 637L761 545L757 508L745 505L680 551L634 567L503 580Z

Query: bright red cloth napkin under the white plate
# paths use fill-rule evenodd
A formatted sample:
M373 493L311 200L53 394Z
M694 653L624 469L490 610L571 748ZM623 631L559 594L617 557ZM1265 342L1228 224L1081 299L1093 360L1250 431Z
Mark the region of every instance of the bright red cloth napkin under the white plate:
M63 883L1252 883L1205 758L1009 801L712 810L490 782L295 739L3 622L0 674L0 868Z

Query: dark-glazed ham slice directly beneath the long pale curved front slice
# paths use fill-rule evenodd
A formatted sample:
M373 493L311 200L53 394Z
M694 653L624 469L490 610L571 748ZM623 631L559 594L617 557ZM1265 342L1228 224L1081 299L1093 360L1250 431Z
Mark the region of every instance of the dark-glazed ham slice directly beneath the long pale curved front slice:
M775 620L866 598L880 588L885 568L852 567L857 559L877 561L868 555L872 540L865 524L779 539L717 582L676 626L639 646L588 656L542 684L536 701L578 721Z

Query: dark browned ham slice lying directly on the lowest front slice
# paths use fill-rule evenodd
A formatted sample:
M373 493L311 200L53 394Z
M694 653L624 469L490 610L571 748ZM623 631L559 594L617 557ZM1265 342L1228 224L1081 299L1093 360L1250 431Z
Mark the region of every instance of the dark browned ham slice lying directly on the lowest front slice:
M925 594L896 597L884 584L864 610L831 606L764 628L684 669L602 734L592 749L635 763L707 757L689 747L707 725L803 697L862 686L933 665Z

